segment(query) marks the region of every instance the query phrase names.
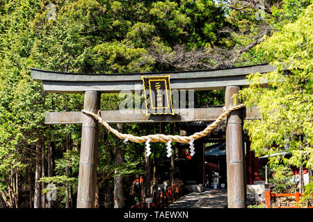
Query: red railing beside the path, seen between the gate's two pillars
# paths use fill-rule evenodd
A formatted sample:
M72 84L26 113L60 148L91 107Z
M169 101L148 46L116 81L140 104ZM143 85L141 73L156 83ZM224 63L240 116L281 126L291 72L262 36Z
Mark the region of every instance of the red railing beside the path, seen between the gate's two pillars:
M163 208L174 203L183 194L182 189L178 189L176 185L172 185L166 189L160 189L156 195L152 198L152 203L148 205L145 200L131 206L131 208Z

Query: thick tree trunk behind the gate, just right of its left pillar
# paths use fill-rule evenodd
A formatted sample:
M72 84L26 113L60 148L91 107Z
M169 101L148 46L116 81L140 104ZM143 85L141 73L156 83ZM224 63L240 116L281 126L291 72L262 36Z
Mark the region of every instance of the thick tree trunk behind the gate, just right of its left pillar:
M122 132L122 124L118 123L118 131ZM120 147L115 148L115 167L118 167L124 162L124 150ZM115 174L118 173L117 170L114 171ZM124 178L122 175L114 177L114 208L124 208L125 207L125 195L124 195Z

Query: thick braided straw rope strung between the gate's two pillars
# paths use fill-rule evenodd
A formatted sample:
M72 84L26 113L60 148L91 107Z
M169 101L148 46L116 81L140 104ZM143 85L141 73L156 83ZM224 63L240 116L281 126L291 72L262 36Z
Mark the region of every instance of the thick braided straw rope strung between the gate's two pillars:
M186 137L186 136L182 137L182 136L179 136L179 135L163 135L163 134L155 134L155 135L147 135L147 136L142 136L142 137L136 137L136 136L131 135L131 134L120 133L120 132L118 132L118 130L115 130L114 128L111 128L111 126L109 126L109 124L106 123L102 119L102 117L99 116L99 112L98 112L98 114L95 114L93 112L89 112L89 111L86 111L86 110L81 110L81 112L86 113L86 114L90 114L91 116L95 117L95 119L97 119L97 121L99 121L99 123L101 123L103 126L105 126L109 130L109 132L115 134L120 139L128 138L131 142L135 142L135 143L147 142L148 139L150 139L150 142L163 142L163 143L166 143L169 140L172 140L172 142L179 142L179 143L182 143L182 144L186 144L189 141L191 141L191 139L195 140L195 139L199 139L201 137L205 137L206 135L208 135L211 132L211 130L216 128L216 126L218 126L220 121L222 121L224 119L224 117L229 115L230 112L232 112L234 110L238 110L240 108L243 108L244 106L245 106L244 104L240 104L240 105L236 105L236 106L226 110L223 114L221 114L218 117L218 119L216 119L216 121L214 121L214 123L211 123L203 131L195 133L195 134L190 135L188 137Z

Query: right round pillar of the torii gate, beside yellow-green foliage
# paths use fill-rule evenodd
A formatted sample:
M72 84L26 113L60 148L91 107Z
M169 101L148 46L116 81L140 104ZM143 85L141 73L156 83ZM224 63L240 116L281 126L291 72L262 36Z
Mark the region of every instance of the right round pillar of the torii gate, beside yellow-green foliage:
M232 96L239 86L225 88L225 107L232 108ZM236 99L236 105L240 101ZM227 162L227 202L228 208L246 208L246 160L243 146L242 110L234 110L227 117L226 162Z

